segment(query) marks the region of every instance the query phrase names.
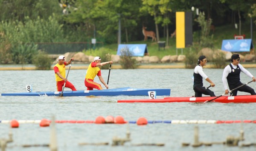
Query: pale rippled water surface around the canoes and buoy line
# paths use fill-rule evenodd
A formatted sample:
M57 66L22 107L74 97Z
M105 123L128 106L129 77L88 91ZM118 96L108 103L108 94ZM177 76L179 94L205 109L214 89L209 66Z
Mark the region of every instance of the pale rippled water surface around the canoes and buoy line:
M71 67L72 68L72 67ZM256 76L256 68L248 68ZM215 83L210 88L215 95L224 93L221 82L223 69L204 69L204 72ZM77 90L84 90L86 70L70 70L68 80ZM172 97L189 97L192 90L193 69L111 69L109 88L171 88ZM102 70L105 82L108 70ZM251 79L241 74L243 83ZM99 78L96 77L96 82ZM0 93L25 92L26 85L32 85L32 91L56 91L53 71L0 71ZM209 83L204 81L205 86ZM256 84L249 86L256 90ZM70 90L65 88L64 90ZM239 92L239 94L243 94ZM157 96L163 98L164 96ZM122 99L143 99L148 97L11 97L0 96L0 120L95 120L98 116L118 116L125 120L137 120L146 117L148 120L256 120L256 103L221 104L221 103L116 103ZM244 142L256 142L256 124L199 124L200 140L204 142L224 141L229 135L239 136L240 128L244 129ZM69 124L57 123L57 140L59 151L255 151L256 147L227 147L224 145L201 146L198 148L182 147L182 142L194 141L195 124L155 123L145 126L136 124ZM124 146L81 146L80 142L109 142L114 136L125 137L129 129L131 142ZM7 151L49 151L46 147L22 148L24 144L49 143L50 128L41 128L39 124L20 124L12 129L14 142L8 144ZM7 138L9 124L0 123L0 138ZM132 146L139 143L164 143L165 146Z

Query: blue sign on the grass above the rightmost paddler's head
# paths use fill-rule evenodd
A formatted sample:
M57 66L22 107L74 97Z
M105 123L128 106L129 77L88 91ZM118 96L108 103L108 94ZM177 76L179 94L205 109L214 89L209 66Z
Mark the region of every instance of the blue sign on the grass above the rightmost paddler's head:
M253 48L251 39L222 40L221 50L231 52L250 51Z

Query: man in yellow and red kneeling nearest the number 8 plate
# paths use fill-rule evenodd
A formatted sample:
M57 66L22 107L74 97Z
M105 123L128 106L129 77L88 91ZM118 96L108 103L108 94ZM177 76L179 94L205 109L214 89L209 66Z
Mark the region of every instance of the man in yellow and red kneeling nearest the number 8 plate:
M74 59L71 58L68 62L65 62L65 57L61 55L58 57L58 63L53 67L55 72L57 91L62 91L62 87L64 86L65 81L65 88L71 88L72 91L76 91L74 85L66 79L66 66L71 63L71 60L73 61Z

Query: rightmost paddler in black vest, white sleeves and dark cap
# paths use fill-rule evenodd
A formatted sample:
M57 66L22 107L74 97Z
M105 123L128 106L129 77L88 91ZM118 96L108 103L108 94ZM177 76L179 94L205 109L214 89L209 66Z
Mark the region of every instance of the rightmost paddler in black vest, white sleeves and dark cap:
M239 62L240 62L239 54L233 54L231 56L230 61L232 63L230 63L229 65L227 65L224 68L223 75L222 75L222 83L224 85L225 94L229 93L229 91L227 89L227 83L228 83L230 90L233 90L234 88L237 88L240 85L243 85L243 83L241 83L241 81L240 81L241 71L244 72L244 74L246 74L248 77L252 78L253 82L256 81L255 77L253 77L253 75L249 71L247 71L241 64L239 64ZM251 88L247 85L244 85L244 86L232 91L230 93L230 95L236 96L237 91L248 92L251 95L256 95L253 88Z

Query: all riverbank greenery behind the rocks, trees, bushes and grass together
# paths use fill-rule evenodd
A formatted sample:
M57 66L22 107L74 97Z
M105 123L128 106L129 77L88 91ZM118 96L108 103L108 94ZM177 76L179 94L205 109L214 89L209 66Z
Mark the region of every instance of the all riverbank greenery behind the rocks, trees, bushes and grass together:
M256 30L250 32L256 20L253 0L0 0L0 63L32 63L40 51L49 53L41 43L54 49L58 43L91 43L92 39L103 45L84 48L85 54L116 54L119 23L121 43L145 43L149 55L159 58L180 54L175 37L170 38L175 12L191 11L192 6L199 13L192 11L193 44L183 49L188 67L201 48L219 49L223 39L234 39L235 34L252 35L255 44ZM166 47L158 50L157 42L143 41L143 26L156 33L157 41L165 41Z

